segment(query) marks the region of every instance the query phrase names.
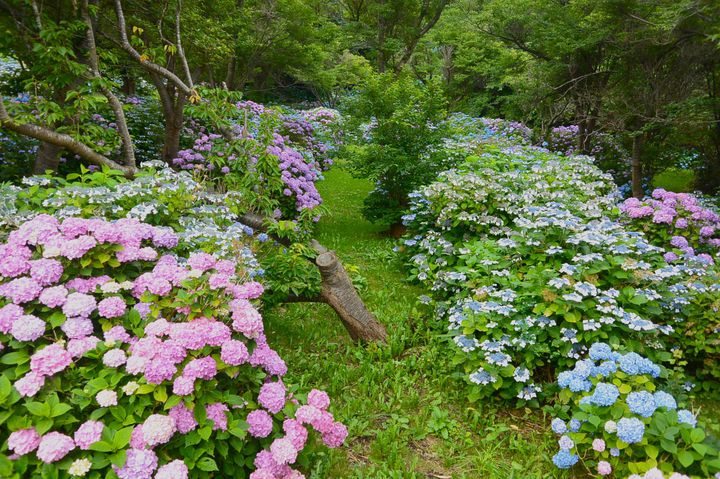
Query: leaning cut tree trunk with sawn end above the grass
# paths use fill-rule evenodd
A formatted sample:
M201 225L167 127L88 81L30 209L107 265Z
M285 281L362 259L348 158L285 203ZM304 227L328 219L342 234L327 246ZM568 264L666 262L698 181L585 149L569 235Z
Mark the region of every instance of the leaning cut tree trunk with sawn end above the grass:
M240 221L256 230L268 229L265 218L256 214L244 214ZM284 238L274 239L286 246L290 243ZM314 239L310 240L310 246L317 253L314 264L322 281L320 294L313 297L293 296L287 302L325 303L335 310L352 339L386 342L385 326L367 309L335 252Z

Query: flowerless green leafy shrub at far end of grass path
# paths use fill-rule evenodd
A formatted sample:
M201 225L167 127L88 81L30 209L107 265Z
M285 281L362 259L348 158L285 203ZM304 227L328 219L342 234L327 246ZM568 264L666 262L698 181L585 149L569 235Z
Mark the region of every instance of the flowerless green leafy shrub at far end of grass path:
M364 134L346 145L342 156L355 175L376 185L363 215L373 222L399 223L408 193L448 166L444 155L435 154L444 136L443 94L434 84L379 75L346 102L344 111L356 128L362 124Z

